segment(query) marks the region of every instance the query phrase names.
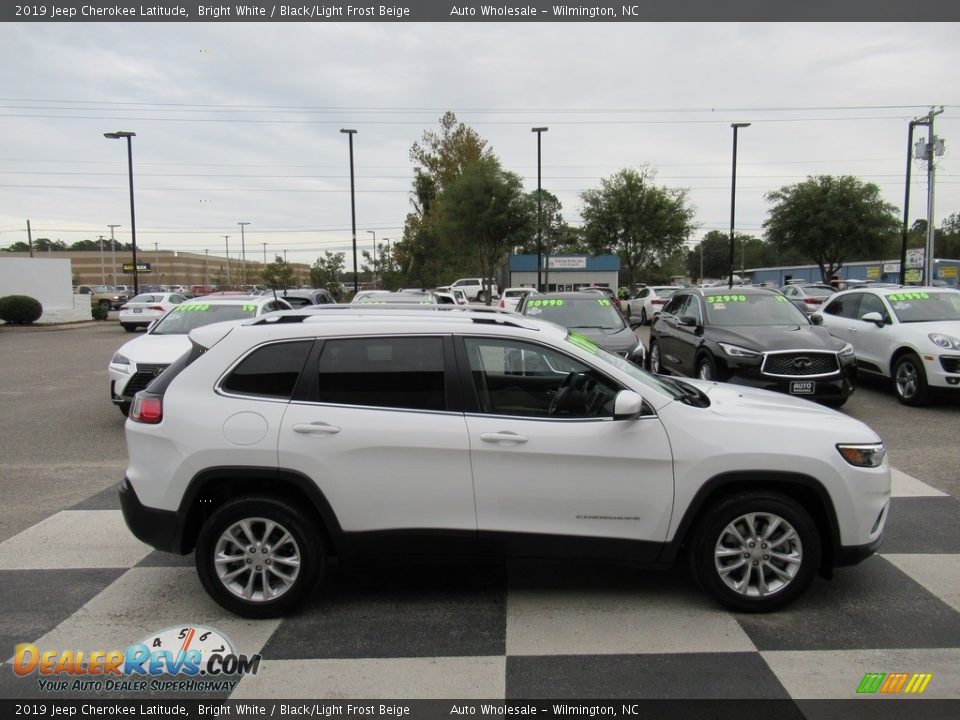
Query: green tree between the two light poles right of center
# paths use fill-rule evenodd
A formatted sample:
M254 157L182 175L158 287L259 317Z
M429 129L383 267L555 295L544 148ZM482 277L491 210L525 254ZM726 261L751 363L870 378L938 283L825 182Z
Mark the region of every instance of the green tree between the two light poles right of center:
M664 265L693 231L687 191L657 187L653 173L621 170L580 197L583 231L595 253L616 252L633 285L653 265Z

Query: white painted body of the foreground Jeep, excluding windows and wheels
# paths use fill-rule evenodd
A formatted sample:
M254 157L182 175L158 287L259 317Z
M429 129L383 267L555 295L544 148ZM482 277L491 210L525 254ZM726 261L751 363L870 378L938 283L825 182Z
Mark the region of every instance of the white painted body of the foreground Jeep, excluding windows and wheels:
M272 478L262 487L254 483L259 489L250 492L259 493L261 500L287 482L299 488L297 493L306 493L298 501L304 511L313 502L307 498L318 498L322 520L316 522L330 533L330 553L341 558L369 554L371 548L389 554L407 541L445 553L458 543L472 546L479 540L517 554L563 555L563 548L576 544L588 556L669 562L685 539L700 534L695 518L701 508L710 514L718 503L739 502L750 488L761 503L778 488L808 498L804 502L825 501L821 510L810 512L824 515L825 557L835 564L848 564L841 558L855 562L866 557L882 536L890 468L879 437L863 423L813 403L722 383L657 378L559 326L510 315L410 311L388 317L356 309L302 313L300 322L284 313L282 320L277 316L275 321L198 328L190 334L196 348L168 376L167 386L138 395L126 424L130 460L121 504L141 539L186 553L197 542L187 528L196 532L198 523L219 522L212 506L207 520L190 520L190 513L206 512L197 510L194 498L258 502L244 501L243 485L232 485L232 476L219 470L238 467L245 469L245 478L256 477L258 469ZM399 352L398 338L416 341L418 352ZM315 339L323 343L316 345ZM434 346L439 352L427 352ZM376 352L367 350L355 360L347 351L351 347ZM297 374L286 397L229 385L235 373L250 377L240 369L250 357L261 358L252 367L269 368L261 372L284 372L263 362L259 353L269 352L276 358L305 353L305 359L319 353L329 395L293 397L314 392L309 388L316 388L317 381L298 382L297 377L316 372L316 360L295 361ZM342 379L323 375L328 352L329 362L343 368L338 371ZM541 353L544 360L529 373L514 364L532 362ZM548 358L583 371L556 369ZM424 374L416 368L432 367L426 374L464 389L464 383L472 387L481 382L478 375L486 379L482 393L477 386L476 397L468 392L462 398L449 396L441 387L435 391L436 407L398 405L392 404L392 394L388 401L387 393L407 392L406 383L384 382L379 375L352 377L370 363L377 369L364 372L394 373L385 376L389 378L401 371ZM398 369L391 370L390 363ZM574 375L593 378L592 391L601 387L606 393L601 393L602 408L584 401L593 410L555 415L555 402L562 407L559 400L567 396L558 389L549 413L525 412L531 407L525 403L533 401L513 387L521 379L534 387L544 377L563 378L560 389L567 387L570 394L578 382L575 378L567 386ZM503 382L488 388L493 381ZM362 389L362 397L334 399L338 393L353 398L351 385L358 393ZM488 408L494 396L503 405ZM419 403L420 397L413 394L409 402ZM153 419L140 414L145 403L159 410ZM503 412L497 409L507 406ZM854 465L841 455L838 443L872 448L875 464ZM739 494L724 490L727 479L737 481ZM218 493L219 483L233 489ZM267 500L267 506L272 504ZM267 506L263 511L272 512ZM232 511L229 502L223 507ZM807 533L819 531L811 527L808 523L804 532L805 547L818 557L814 548L821 541ZM201 569L213 562L201 551L209 549L205 532L200 531L198 571L218 602L251 617L289 608L290 603L272 602L275 590L263 593L267 600L238 600L219 588L213 571ZM699 545L714 552L711 542ZM307 557L324 550L304 541L298 552ZM800 563L784 557L784 562ZM754 565L758 562L759 556ZM297 591L303 592L302 587ZM748 608L753 603L749 597L744 602Z

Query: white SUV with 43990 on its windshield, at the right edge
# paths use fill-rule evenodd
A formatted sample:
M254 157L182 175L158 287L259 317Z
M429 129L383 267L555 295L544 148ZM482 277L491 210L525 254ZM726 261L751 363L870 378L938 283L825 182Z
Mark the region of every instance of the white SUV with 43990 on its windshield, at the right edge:
M931 303L942 304L936 319L918 320L931 315L923 309ZM930 391L960 390L960 291L859 287L832 296L818 315L831 335L853 346L860 372L894 379L901 402L924 404Z

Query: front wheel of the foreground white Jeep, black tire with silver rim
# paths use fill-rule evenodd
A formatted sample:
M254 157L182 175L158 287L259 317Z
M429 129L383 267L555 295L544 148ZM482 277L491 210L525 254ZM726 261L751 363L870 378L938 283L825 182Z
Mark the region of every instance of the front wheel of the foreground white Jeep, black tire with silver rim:
M738 535L727 532L731 526ZM721 605L770 612L807 589L821 548L816 523L798 502L773 492L746 492L725 498L700 519L690 565L700 586Z

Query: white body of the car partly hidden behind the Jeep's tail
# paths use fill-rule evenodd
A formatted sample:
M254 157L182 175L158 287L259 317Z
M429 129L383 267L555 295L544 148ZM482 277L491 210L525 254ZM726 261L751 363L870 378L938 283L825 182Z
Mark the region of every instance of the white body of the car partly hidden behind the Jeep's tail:
M233 308L250 308L242 315L232 312ZM110 398L114 405L126 415L135 393L145 388L153 378L162 373L174 360L190 349L190 339L186 332L167 333L163 321L170 313L186 312L193 318L202 318L206 311L197 308L212 308L207 322L221 322L237 317L257 317L276 310L289 310L290 304L272 297L210 297L188 300L174 306L160 315L157 324L143 335L130 340L114 353L107 367L110 382ZM218 317L218 311L227 315ZM195 323L192 323L197 326Z

